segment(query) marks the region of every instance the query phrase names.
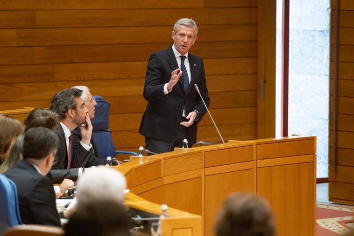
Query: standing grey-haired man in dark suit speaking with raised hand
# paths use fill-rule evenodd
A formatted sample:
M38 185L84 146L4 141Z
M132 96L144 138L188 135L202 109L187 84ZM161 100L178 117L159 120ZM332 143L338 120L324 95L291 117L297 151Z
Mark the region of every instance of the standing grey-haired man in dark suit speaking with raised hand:
M195 43L198 27L189 18L179 19L173 27L173 45L153 53L148 62L144 98L148 101L139 132L145 136L146 149L173 151L196 142L196 124L206 112L194 84L198 85L205 104L209 96L202 58L188 53Z

